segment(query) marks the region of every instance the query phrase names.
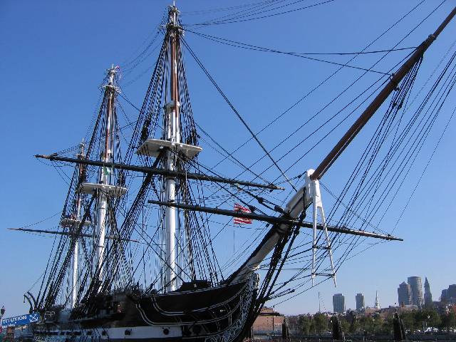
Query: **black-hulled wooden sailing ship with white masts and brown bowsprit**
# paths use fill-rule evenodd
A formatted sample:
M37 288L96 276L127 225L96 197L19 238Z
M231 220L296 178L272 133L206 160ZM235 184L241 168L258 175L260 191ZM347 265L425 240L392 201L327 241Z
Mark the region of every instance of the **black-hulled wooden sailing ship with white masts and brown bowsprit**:
M437 31L415 49L316 170L305 172L304 185L280 207L264 203L251 192L279 190L278 185L225 178L197 167L202 148L182 61L183 28L179 11L170 6L165 38L125 154L120 148L116 107L118 68L113 66L105 78L103 101L90 141L81 144L76 157L37 155L71 163L74 173L61 216L62 230L54 232L59 239L41 289L38 294L25 295L31 311L41 314L41 321L33 325L36 340L242 341L264 303L277 295L274 285L300 229L312 231L309 276L324 276L334 283L329 234L398 240L389 234L327 224L319 180L420 63L423 53L455 14L453 9ZM138 186L133 175L140 175ZM204 182L228 192L232 188L242 191L269 205L277 215L258 213L247 202L242 202L249 209L244 211L207 207L195 195ZM133 201L127 201L128 196L133 196ZM155 214L145 214L145 208ZM311 221L306 221L308 210ZM210 239L204 235L207 222L202 214L254 219L267 222L269 229L241 266L221 277L214 265ZM321 222L317 222L317 214ZM140 242L133 239L133 232L144 227L141 222L146 218L157 222L160 236L150 237L141 231L147 239ZM317 244L318 233L323 234L323 246ZM161 244L154 245L157 241ZM138 266L131 262L131 245L141 243L147 243L148 253L153 252L160 264L156 280L146 287L138 284ZM318 254L320 250L323 253ZM257 270L266 258L266 274L260 279ZM325 258L329 268L322 273L318 262ZM71 291L59 299L65 279L71 282Z

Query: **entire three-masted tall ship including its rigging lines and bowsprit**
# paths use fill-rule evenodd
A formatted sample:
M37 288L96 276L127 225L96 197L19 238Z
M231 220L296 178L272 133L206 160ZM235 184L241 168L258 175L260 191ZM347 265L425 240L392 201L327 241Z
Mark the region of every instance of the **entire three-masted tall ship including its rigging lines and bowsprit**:
M400 139L418 122L399 118L403 103L423 54L455 14L453 9L391 72L321 164L294 179L286 177L248 120L206 72L279 173L282 181L277 182L261 174L251 180L224 177L199 162L202 133L192 114L183 47L199 60L185 41L179 10L170 6L145 98L137 118L128 123L128 139L119 119L119 97L124 96L120 70L112 66L103 81L90 139L77 150L36 155L53 165L73 167L59 229L21 229L56 236L39 289L24 295L30 311L41 317L32 326L36 341L242 341L268 301L299 295L304 283L314 286L329 279L336 284L336 247L353 239L400 240L371 231L368 224L356 229L348 219L329 224L320 180L388 99L391 105L366 142L356 174L373 165L382 138L394 135L393 146L403 143ZM437 83L436 89L444 86ZM397 120L403 120L399 126ZM410 125L401 134L398 127L406 121ZM383 180L388 162L401 148L395 145L380 160L383 169L378 172L383 173L375 171L372 177ZM360 184L357 193L371 191L368 183ZM289 192L286 200L274 197L284 191ZM353 208L348 202L344 217L356 217ZM212 243L217 236L211 231L214 217L261 224L229 273L226 264L219 264ZM298 264L292 274L289 261Z

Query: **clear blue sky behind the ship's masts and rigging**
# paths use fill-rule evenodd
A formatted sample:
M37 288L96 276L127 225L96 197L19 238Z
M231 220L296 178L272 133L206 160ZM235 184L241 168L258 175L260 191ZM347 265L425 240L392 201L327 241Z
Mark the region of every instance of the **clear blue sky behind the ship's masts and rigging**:
M292 8L315 2L302 1ZM282 51L360 51L418 2L336 0L281 16L207 26L199 30ZM190 13L192 11L244 3L238 0L199 0L177 1L177 6L182 10L182 21L192 24L226 14L225 11L202 14ZM38 162L33 155L63 150L76 145L86 135L105 68L111 63L122 66L125 61L138 55L145 42L153 37L168 4L168 1L161 0L73 3L1 1L0 141L3 152L0 168L0 255L3 268L0 276L0 306L6 307L6 316L24 314L28 310L26 304L22 304L22 294L43 272L52 244L52 239L48 237L11 232L6 228L23 227L53 216L61 210L66 195L66 183L57 172ZM377 41L371 50L393 46L437 4L437 1L425 1L397 28ZM443 4L400 47L417 46L435 30L452 6L452 1ZM456 22L453 21L426 53L415 89L420 88L441 56L450 48L455 29ZM326 63L221 46L192 33L186 33L185 38L255 131L336 70L336 66ZM387 71L406 53L394 53L376 69ZM327 59L345 63L348 58L332 56ZM374 60L373 56L363 56L353 65L369 66ZM121 84L125 84L125 94L133 103L141 103L151 73L147 68L154 62L155 55L152 54L133 73L125 73L121 80ZM232 147L233 141L239 145L247 140L249 135L246 130L214 92L190 56L187 56L187 68L195 119L225 147ZM260 135L264 145L269 148L274 146L359 75L360 72L353 69L344 71L314 96L304 100L273 129ZM343 99L353 98L356 91L366 88L375 77L366 78ZM409 184L382 222L383 230L390 232L393 229L455 105L453 93L432 130L413 175L410 175ZM331 115L336 108L328 108L327 115ZM135 110L126 105L125 110L133 120ZM290 174L296 175L316 167L347 127L336 130L321 145L318 153L299 161ZM398 284L412 275L422 276L423 282L424 276L427 276L435 299L448 284L455 283L456 239L452 219L456 204L453 195L456 190L455 137L455 124L451 123L420 187L395 229L395 234L403 237L404 242L380 244L368 249L342 266L338 273L337 289L326 282L293 301L281 304L278 309L286 314L314 312L318 309L318 291L328 310L332 308L332 294L338 292L346 295L347 307L355 306L358 292L365 294L366 305L373 305L375 290L378 290L383 306L393 305L397 301ZM341 177L346 179L353 167L353 160L359 157L356 150L361 149L362 143L362 138L358 139L325 177L325 184L334 192L341 190ZM261 150L254 144L249 144L237 153L237 157L246 164L260 155ZM280 152L275 156L278 155ZM217 158L208 152L204 162L213 165ZM288 167L294 159L285 159L281 165ZM261 167L256 170L261 170ZM220 172L232 173L223 169ZM326 211L329 211L331 199L323 192L325 199L328 206ZM57 224L58 215L34 227L52 229ZM231 234L227 235L229 238ZM232 242L229 250L232 250Z

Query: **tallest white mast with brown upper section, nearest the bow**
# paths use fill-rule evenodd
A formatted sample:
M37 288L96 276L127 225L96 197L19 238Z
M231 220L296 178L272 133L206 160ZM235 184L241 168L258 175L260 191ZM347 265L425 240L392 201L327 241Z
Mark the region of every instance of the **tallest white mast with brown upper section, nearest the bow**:
M179 85L177 81L177 8L171 6L170 19L168 29L170 32L170 96L171 101L165 106L165 140L170 142L180 142L180 124L179 124ZM170 171L176 170L176 154L172 150L166 152L166 169ZM176 181L174 177L167 177L165 181L165 201L175 202L176 197ZM175 249L175 234L176 234L176 208L166 207L165 209L165 253L166 253L166 281L167 291L176 289L175 281L175 266L176 266L176 249Z

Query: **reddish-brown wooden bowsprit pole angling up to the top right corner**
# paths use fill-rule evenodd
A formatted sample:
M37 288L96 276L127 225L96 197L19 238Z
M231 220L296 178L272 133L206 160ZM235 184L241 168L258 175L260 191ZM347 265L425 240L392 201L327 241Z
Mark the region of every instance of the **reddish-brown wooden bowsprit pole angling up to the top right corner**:
M415 63L420 60L420 58L423 57L423 53L429 48L429 46L435 41L437 36L440 34L440 32L443 31L445 26L451 21L451 19L456 15L456 7L451 11L450 14L448 14L447 18L440 24L440 26L437 28L437 30L434 32L434 34L431 34L430 36L427 37L423 43L416 48L415 52L408 58L408 60L403 63L403 66L400 67L397 73L393 74L393 77L390 79L388 84L383 88L383 90L380 91L380 93L375 97L375 99L372 101L372 103L364 110L363 114L356 120L355 123L351 126L351 128L347 131L345 135L339 140L336 146L334 146L333 150L328 153L328 155L323 159L320 165L316 168L314 173L311 175L311 180L319 180L325 172L333 165L333 162L337 160L339 155L343 152L343 150L346 149L346 147L350 144L351 140L356 137L356 135L359 133L359 131L366 125L368 120L372 117L372 115L375 113L378 108L380 108L380 105L385 102L385 100L388 98L390 93L395 90L395 88L398 87L400 81L407 75L407 73L413 68Z

